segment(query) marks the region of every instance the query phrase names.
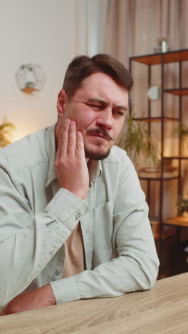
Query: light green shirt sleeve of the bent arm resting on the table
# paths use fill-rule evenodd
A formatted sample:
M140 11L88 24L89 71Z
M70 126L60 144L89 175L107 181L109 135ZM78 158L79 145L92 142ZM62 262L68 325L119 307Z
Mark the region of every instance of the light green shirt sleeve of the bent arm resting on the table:
M113 246L117 257L93 270L51 283L57 303L81 298L116 297L152 288L159 260L148 207L135 168L123 158L115 196Z

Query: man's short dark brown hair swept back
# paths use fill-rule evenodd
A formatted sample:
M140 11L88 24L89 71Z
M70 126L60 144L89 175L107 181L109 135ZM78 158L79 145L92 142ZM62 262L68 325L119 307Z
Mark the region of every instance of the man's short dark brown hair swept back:
M85 78L97 72L108 74L118 85L130 92L133 80L125 66L108 54L96 54L93 57L76 56L68 65L63 82L68 98L74 96Z

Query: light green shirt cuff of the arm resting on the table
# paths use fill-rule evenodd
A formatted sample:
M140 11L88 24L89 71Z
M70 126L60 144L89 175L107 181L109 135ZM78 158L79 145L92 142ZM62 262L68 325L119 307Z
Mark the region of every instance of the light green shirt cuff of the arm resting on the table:
M56 298L56 303L67 303L82 298L75 276L54 280L50 283Z

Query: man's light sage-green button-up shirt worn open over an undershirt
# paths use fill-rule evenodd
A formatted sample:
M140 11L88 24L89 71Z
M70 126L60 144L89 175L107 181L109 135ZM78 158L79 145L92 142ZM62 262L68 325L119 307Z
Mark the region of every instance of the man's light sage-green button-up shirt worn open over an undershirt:
M145 196L113 146L82 201L59 188L55 126L0 151L0 307L51 283L57 303L115 297L155 284L159 261ZM80 221L86 270L63 278L64 243Z

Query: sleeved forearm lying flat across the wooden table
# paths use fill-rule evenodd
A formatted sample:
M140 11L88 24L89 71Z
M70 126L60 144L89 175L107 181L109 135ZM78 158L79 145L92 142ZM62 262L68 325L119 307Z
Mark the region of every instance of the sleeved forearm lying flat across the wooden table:
M155 284L158 263L150 262L150 269L143 270L129 256L121 256L94 270L85 270L71 278L51 283L56 303L65 303L82 298L116 297L136 290L147 290Z

